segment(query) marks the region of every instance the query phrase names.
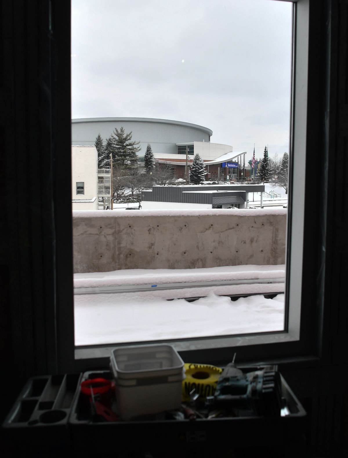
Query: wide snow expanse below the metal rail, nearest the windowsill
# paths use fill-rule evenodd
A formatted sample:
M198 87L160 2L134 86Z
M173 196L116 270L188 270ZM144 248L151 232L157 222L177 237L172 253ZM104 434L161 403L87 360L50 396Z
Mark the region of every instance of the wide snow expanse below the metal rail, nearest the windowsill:
M154 294L75 296L75 344L208 337L284 328L284 294L274 299L256 295L232 301L210 293L194 302L156 299Z

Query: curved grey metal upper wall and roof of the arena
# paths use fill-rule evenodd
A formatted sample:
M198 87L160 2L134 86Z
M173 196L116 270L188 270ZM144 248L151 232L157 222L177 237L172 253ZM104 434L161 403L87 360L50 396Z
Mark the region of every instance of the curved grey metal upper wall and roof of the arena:
M100 133L104 141L115 127L133 132L132 139L140 141L139 156L144 156L150 143L153 153L177 154L178 143L209 142L213 132L207 127L182 121L153 118L84 118L72 120L72 146L94 146Z

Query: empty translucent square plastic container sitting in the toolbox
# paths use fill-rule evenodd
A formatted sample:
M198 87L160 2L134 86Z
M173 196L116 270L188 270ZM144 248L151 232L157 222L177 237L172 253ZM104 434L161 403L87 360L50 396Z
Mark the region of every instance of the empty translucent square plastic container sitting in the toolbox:
M118 347L111 352L110 368L122 420L181 406L184 362L171 345Z

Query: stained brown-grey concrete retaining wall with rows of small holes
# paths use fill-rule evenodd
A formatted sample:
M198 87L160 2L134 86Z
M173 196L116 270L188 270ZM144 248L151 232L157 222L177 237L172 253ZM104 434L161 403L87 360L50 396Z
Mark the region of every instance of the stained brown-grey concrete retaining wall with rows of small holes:
M260 215L263 210L254 210L255 216L241 216L244 211L74 215L74 272L285 264L286 213Z

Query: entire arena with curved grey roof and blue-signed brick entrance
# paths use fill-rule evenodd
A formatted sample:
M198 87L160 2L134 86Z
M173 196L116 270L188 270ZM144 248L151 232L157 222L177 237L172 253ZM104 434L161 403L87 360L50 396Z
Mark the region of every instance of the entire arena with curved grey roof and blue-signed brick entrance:
M148 143L157 163L169 163L175 170L175 176L184 175L186 149L188 165L193 156L199 156L207 164L207 179L225 179L245 177L245 152L233 153L231 145L210 142L213 131L202 125L183 121L154 118L84 118L72 120L72 146L94 146L100 133L104 142L114 129L123 126L126 132L132 132L132 140L140 142L139 161L144 157ZM233 159L236 159L233 161ZM243 159L242 159L243 158ZM144 160L144 159L143 159ZM243 162L242 162L243 161ZM243 174L244 172L244 174Z

